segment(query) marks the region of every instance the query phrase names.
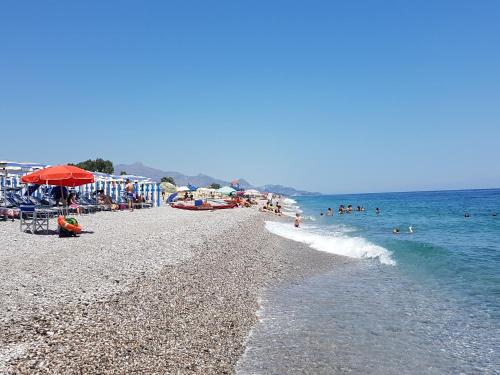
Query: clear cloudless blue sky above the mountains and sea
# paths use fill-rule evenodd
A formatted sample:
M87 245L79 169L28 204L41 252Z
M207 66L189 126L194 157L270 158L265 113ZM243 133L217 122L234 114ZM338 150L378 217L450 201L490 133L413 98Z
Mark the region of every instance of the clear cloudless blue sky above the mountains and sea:
M0 159L500 186L499 1L4 1Z

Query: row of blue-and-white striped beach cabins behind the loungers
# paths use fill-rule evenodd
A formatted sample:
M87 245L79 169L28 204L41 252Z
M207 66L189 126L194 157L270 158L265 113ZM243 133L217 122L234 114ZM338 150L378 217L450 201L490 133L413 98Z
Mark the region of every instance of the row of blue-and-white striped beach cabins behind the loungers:
M21 183L21 177L46 167L48 165L0 161L0 172L3 172L0 177L0 190L3 193L9 188L19 189L24 194L27 185ZM124 194L126 180L130 180L134 183L137 195L142 195L145 200L152 202L153 206L159 207L161 204L160 184L148 177L134 175L117 176L100 172L91 173L95 177L95 182L77 186L75 191L83 195L92 195L98 190L103 190L106 195L109 195L113 201L117 202ZM42 189L37 189L33 194L40 197L43 194Z

